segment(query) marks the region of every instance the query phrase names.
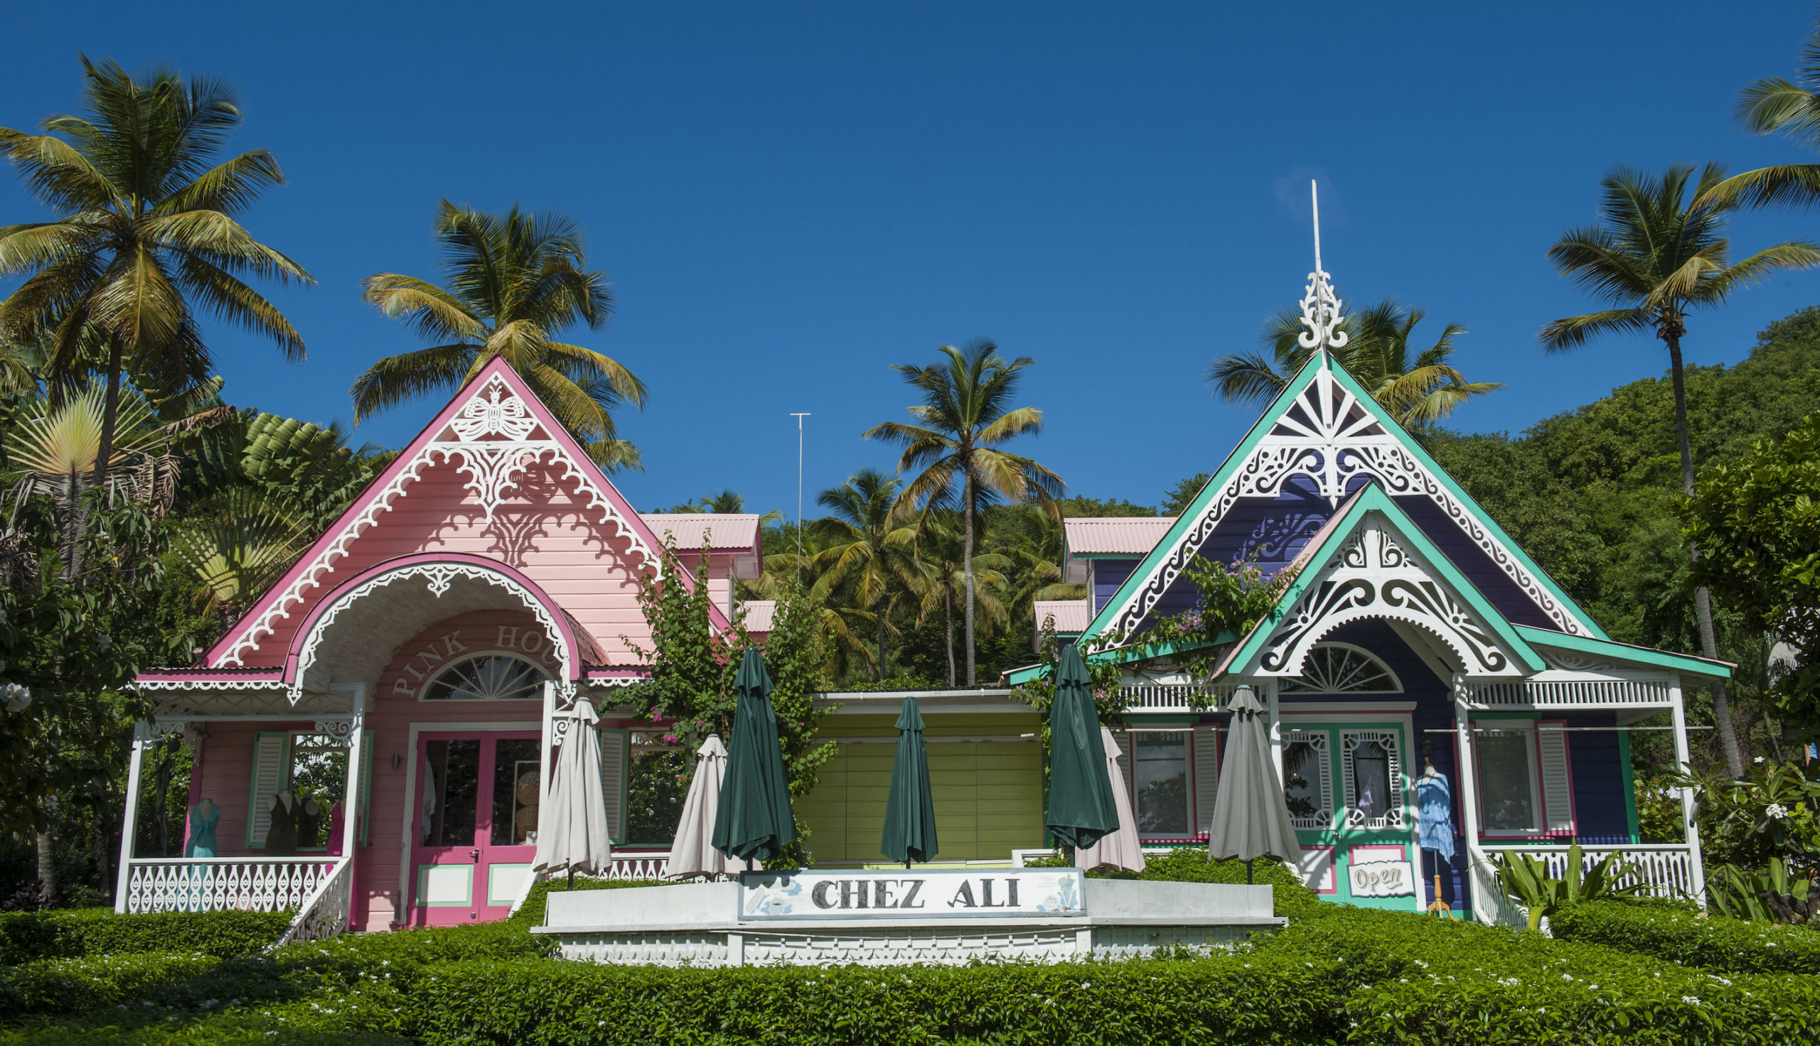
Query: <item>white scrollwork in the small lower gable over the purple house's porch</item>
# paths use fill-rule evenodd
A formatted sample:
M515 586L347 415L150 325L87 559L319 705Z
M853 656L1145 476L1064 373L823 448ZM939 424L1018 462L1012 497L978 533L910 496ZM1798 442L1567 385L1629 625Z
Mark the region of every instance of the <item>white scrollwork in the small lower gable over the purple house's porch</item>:
M1341 624L1392 619L1414 624L1454 651L1467 675L1516 675L1512 657L1491 628L1383 528L1372 513L1325 564L1289 615L1272 629L1256 666L1241 675L1301 675L1309 651Z

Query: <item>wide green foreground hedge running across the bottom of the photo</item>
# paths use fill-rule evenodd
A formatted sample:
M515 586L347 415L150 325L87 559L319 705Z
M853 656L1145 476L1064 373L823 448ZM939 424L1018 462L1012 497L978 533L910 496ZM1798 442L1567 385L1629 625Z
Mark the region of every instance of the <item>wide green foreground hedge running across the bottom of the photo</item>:
M541 948L493 924L40 961L0 971L0 1046L1820 1041L1815 975L1341 904L1234 951L1123 962L668 970Z

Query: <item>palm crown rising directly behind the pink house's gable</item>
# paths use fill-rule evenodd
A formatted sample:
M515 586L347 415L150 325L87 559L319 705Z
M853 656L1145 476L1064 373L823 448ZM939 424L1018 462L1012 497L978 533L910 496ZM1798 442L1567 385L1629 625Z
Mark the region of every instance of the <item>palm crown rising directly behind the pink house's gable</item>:
M573 324L601 329L613 315L606 273L588 269L575 222L513 206L504 216L437 209L444 286L379 273L366 300L435 342L386 357L353 382L355 422L411 397L455 389L504 357L606 471L637 469L639 451L617 438L613 409L644 406L644 382L617 360L555 340Z

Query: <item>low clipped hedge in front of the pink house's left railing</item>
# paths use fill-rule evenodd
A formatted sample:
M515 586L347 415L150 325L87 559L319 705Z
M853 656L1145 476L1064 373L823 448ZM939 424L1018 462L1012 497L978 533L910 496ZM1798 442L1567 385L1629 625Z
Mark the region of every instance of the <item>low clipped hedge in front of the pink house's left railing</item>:
M289 924L289 911L9 911L0 915L0 966L136 951L248 955L277 944Z

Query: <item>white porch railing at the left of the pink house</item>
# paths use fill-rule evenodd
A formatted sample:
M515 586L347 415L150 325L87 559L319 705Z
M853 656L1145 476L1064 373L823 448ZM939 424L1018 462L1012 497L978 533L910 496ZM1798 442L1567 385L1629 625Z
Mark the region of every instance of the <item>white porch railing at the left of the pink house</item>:
M115 911L304 908L340 862L340 857L135 857Z

